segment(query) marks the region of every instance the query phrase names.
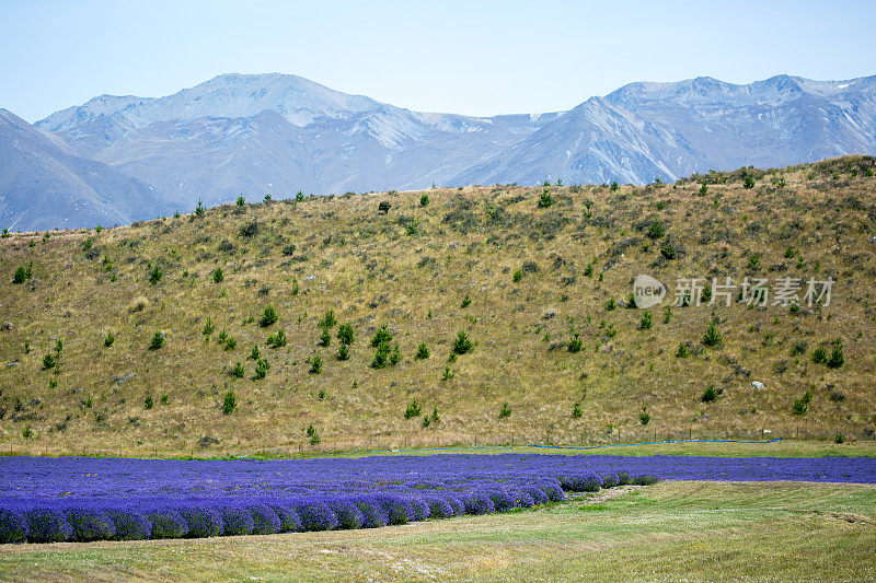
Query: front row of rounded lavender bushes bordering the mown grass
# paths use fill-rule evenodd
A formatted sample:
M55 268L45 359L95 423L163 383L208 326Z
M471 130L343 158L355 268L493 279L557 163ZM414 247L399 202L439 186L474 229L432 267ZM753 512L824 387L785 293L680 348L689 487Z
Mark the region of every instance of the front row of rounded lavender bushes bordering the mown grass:
M564 479L476 480L387 488L371 493L331 491L299 497L241 495L127 501L94 498L0 500L0 543L203 538L335 528L377 528L426 518L487 514L565 500L567 491L596 491L656 478L624 471Z

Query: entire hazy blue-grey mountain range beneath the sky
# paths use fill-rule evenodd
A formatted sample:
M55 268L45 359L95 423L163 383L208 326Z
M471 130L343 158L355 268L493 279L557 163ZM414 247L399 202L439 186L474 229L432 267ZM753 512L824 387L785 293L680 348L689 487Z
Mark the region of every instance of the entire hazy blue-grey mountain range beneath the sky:
M160 98L101 95L34 126L0 115L0 221L125 223L243 194L431 184L643 184L876 152L876 75L631 83L567 112L419 113L289 74Z

